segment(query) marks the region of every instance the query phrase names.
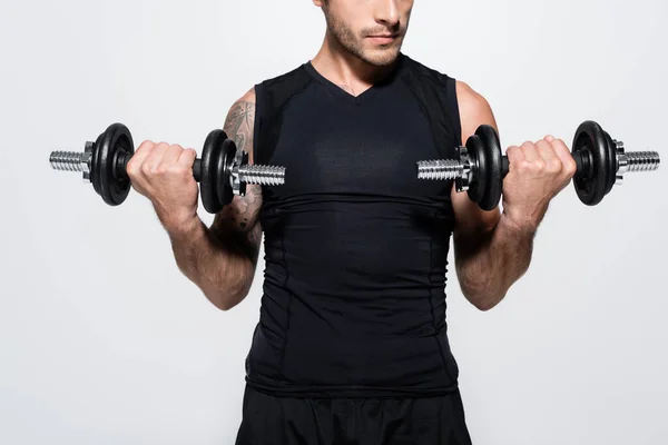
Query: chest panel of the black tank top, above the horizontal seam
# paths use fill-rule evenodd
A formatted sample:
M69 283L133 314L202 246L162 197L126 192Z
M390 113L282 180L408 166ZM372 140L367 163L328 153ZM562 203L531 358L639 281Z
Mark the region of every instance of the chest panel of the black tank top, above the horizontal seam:
M276 196L340 192L443 196L445 181L418 179L418 161L439 157L428 119L410 93L363 103L303 95L284 110L271 164L286 168Z

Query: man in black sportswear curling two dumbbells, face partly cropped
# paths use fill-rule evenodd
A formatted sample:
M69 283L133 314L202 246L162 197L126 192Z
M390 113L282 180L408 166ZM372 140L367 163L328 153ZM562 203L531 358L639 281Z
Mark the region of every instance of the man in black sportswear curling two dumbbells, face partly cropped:
M180 270L223 310L248 294L265 234L238 445L470 444L446 335L450 236L463 295L491 309L574 161L552 137L510 147L502 214L418 180L418 160L495 127L488 102L400 51L413 1L313 2L320 52L252 88L224 127L250 162L285 166L285 185L249 186L207 228L193 149L145 141L128 172Z

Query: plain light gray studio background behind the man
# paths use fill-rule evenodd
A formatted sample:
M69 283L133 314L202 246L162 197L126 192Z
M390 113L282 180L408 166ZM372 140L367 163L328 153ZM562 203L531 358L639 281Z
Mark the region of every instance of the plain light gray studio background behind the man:
M570 146L596 119L666 157L667 12L418 0L404 52L485 96L504 147L546 134ZM323 32L308 0L0 2L0 443L234 442L264 261L244 303L219 312L178 271L148 200L108 207L48 155L114 121L136 145L200 152L234 100L307 61ZM451 267L477 445L668 439L667 172L628 175L595 208L569 186L528 275L489 313Z

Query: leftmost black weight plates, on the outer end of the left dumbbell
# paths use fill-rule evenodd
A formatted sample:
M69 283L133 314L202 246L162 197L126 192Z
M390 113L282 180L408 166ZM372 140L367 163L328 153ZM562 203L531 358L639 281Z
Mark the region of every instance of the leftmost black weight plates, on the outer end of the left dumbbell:
M117 175L116 162L122 152L135 152L132 136L125 125L116 122L97 138L90 162L92 188L109 206L122 204L131 187L127 175Z

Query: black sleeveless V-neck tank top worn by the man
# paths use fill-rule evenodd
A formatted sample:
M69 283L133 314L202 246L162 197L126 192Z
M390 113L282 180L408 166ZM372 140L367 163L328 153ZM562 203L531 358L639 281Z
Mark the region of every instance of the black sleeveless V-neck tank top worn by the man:
M445 322L451 181L419 160L461 145L454 79L400 55L354 97L311 62L255 86L265 271L246 382L274 395L453 390Z

